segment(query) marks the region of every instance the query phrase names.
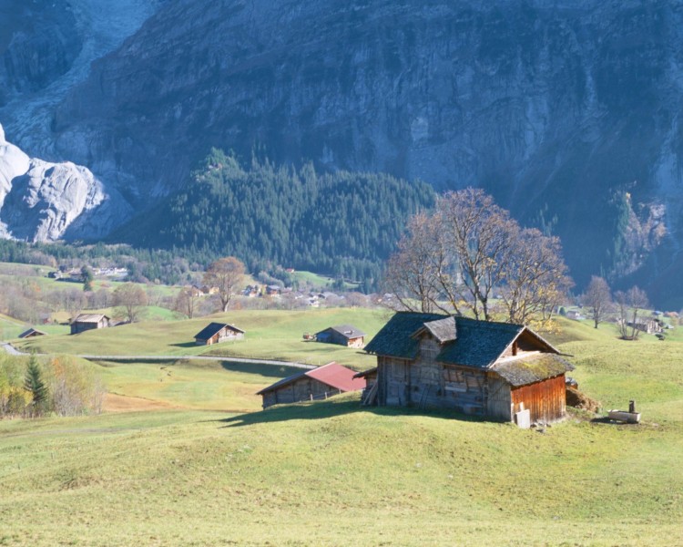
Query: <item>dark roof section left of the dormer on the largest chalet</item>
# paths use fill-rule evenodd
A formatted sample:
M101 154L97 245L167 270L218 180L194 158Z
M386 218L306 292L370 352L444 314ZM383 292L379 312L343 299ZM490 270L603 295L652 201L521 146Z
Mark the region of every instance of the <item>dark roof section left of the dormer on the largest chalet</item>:
M365 346L365 351L378 356L401 357L414 359L417 356L419 340L413 334L425 323L445 319L448 315L416 314L413 312L399 312L382 326L377 335Z

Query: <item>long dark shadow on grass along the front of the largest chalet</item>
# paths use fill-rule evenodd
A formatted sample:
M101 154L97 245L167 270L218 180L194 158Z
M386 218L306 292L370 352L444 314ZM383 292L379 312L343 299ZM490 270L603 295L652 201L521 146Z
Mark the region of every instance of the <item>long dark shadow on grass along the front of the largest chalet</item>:
M346 400L344 400L346 399ZM225 428L238 428L271 422L289 421L292 419L326 419L354 413L371 413L377 416L424 416L429 418L455 419L458 421L481 422L484 418L460 414L454 410L418 410L416 408L396 407L362 407L357 398L344 397L340 401L314 401L311 403L295 403L278 405L257 412L240 414L219 420L226 424Z

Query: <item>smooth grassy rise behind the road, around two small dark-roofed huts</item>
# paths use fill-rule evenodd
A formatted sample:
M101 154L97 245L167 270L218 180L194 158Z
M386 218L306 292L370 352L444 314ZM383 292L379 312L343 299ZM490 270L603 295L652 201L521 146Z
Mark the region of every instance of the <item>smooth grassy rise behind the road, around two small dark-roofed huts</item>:
M236 310L185 321L142 321L133 325L88 331L79 335L40 336L16 341L25 351L47 354L104 356L216 355L299 361L324 365L368 367L373 358L357 349L303 341L305 332L350 323L370 337L386 322L384 310L330 308L305 311ZM194 335L211 321L237 325L246 339L217 346L195 346Z

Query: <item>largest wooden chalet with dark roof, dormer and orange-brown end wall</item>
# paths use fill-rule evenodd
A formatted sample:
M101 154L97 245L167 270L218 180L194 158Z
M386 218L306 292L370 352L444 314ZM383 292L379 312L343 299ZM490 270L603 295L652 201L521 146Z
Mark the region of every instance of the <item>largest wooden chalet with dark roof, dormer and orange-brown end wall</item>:
M365 351L377 356L370 403L504 421L520 411L531 422L565 416L565 373L574 366L524 325L403 312Z

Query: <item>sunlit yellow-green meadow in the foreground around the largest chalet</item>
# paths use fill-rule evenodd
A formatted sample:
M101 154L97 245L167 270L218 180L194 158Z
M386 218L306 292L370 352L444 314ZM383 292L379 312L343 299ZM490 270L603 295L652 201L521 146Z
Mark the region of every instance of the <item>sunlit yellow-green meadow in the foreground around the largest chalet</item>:
M559 325L580 388L642 424L540 433L355 394L259 411L291 370L105 363L110 391L174 408L0 422L0 545L683 544L678 335Z

